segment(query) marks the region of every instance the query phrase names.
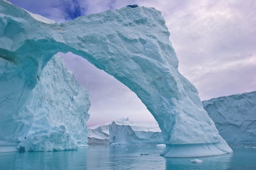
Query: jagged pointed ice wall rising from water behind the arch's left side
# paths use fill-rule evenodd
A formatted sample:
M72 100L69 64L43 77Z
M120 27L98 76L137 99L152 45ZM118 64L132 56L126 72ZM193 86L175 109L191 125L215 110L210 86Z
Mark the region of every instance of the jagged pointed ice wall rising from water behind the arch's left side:
M64 60L53 56L17 117L6 123L4 137L18 143L21 151L62 151L87 145L90 101L80 88Z

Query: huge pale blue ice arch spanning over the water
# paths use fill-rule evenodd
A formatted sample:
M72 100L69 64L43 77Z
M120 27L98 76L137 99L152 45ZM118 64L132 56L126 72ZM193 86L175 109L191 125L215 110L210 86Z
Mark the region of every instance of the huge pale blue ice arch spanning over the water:
M42 17L34 16L36 20L26 10L0 1L0 17L2 131L3 124L18 115L51 57L70 51L136 93L163 131L165 157L232 152L203 109L195 86L180 74L160 11L126 6L46 24L51 21L38 21ZM158 93L150 92L154 88ZM0 140L6 136L12 140L12 134L5 133Z

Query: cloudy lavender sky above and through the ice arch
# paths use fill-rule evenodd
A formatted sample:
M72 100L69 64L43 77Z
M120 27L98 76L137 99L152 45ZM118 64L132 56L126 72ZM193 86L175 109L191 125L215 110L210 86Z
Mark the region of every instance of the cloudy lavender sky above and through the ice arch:
M128 4L162 12L179 59L179 71L198 89L201 100L256 90L255 0L10 0L14 5L56 22L119 9ZM81 85L123 85L87 60L60 53ZM127 89L128 92L129 89ZM134 93L89 92L88 127L121 117L153 121Z

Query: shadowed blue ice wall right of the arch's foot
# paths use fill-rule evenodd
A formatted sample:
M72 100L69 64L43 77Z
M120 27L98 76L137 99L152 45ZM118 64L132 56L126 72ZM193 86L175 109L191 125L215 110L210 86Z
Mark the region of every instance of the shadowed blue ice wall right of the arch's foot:
M227 142L256 142L256 91L202 103Z

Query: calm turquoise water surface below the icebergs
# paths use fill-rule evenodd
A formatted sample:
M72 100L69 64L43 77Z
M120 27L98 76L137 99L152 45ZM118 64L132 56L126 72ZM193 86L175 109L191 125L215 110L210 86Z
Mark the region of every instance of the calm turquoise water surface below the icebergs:
M195 158L164 158L156 145L90 145L76 151L0 153L0 169L256 169L256 143L231 144L234 153ZM140 155L140 154L149 155Z

